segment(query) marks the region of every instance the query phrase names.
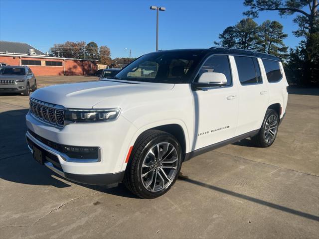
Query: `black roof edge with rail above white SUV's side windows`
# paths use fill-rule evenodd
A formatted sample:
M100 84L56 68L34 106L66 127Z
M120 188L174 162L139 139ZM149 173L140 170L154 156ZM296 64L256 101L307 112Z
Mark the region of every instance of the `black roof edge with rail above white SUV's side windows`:
M230 55L243 55L243 56L254 56L258 58L270 59L281 61L278 57L266 53L261 53L257 51L228 48L228 47L211 47L202 49L176 49L176 50L164 50L158 52L191 52L193 54L208 54L208 53L219 53L219 54L230 54ZM155 52L154 52L155 53Z

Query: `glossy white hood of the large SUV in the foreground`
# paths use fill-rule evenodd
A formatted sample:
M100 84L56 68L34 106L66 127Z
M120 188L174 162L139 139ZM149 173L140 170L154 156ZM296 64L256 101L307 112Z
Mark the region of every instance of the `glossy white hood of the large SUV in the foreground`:
M91 109L103 101L103 108L121 107L121 101L136 94L170 90L173 84L105 80L48 86L36 90L32 98L66 108ZM100 106L101 104L99 104Z

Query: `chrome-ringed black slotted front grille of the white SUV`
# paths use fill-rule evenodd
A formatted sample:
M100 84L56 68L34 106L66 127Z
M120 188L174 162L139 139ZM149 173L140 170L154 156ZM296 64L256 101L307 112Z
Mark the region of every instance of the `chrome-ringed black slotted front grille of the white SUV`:
M60 108L62 107L30 98L30 111L34 117L47 123L63 127L64 110Z

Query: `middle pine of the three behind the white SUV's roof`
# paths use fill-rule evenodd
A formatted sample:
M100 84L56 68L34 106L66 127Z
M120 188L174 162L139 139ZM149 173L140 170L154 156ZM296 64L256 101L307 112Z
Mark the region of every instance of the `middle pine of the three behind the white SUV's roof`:
M252 18L244 18L235 25L237 33L237 47L254 50L257 40L257 23Z

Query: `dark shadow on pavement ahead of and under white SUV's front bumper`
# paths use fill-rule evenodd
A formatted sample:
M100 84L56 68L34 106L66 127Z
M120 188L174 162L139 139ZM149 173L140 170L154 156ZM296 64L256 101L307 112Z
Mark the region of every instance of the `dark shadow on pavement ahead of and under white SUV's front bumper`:
M52 185L57 188L71 187L68 183L63 182L66 179L60 180L59 175L33 159L25 142L27 130L25 115L27 112L28 109L0 113L0 178L21 184ZM134 194L125 189L123 184L107 188L72 183L107 194L136 198Z

